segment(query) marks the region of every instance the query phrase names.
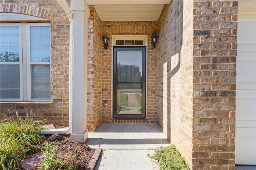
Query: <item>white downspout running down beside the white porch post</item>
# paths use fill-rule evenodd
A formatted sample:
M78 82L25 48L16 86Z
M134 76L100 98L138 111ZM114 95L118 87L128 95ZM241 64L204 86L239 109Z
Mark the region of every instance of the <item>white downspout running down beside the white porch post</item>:
M41 134L64 134L72 130L72 113L73 113L73 17L70 7L66 0L57 0L64 12L67 14L70 29L69 29L69 123L68 128L52 128L44 129Z

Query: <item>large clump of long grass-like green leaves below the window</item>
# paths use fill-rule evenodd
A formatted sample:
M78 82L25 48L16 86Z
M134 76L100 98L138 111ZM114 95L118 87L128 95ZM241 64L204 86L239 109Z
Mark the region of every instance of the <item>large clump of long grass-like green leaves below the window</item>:
M28 115L25 119L16 112L14 120L0 121L0 169L15 170L30 152L40 149L40 134L44 122Z

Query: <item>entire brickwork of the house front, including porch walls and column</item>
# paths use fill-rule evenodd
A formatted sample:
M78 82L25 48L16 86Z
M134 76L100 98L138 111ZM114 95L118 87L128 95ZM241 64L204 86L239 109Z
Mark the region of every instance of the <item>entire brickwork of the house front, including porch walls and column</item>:
M68 1L70 3L70 1ZM237 1L172 0L156 22L88 21L87 128L158 123L191 169L234 170ZM51 23L51 102L1 102L10 112L68 125L69 20L56 0L0 0L0 12ZM158 32L156 48L150 36ZM110 37L104 49L102 36ZM147 119L112 119L112 35L147 35ZM105 106L103 103L107 103Z

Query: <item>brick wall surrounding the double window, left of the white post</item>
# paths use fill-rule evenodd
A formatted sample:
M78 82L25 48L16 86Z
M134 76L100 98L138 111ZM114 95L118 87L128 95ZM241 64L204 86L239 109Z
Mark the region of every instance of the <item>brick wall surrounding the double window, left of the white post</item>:
M70 0L67 1L70 4ZM69 112L69 20L56 0L0 0L0 12L37 16L51 24L51 103L1 102L0 113L25 116L30 111L38 119L68 125Z

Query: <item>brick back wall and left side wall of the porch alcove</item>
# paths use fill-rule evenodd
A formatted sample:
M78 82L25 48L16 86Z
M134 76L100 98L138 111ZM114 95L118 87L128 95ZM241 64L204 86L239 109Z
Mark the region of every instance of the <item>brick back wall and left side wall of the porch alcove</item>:
M150 36L158 30L157 22L102 22L94 8L90 8L88 48L88 106L89 131L98 128L101 122L108 123L156 123L156 54L150 48ZM110 37L109 49L104 49L102 36ZM112 35L148 35L148 98L147 119L112 119ZM107 103L104 106L103 103Z

